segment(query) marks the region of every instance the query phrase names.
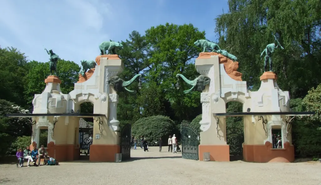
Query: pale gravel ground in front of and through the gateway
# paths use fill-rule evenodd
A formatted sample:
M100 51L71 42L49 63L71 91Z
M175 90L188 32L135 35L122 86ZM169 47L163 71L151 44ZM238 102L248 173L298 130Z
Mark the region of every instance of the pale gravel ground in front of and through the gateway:
M318 185L321 163L203 162L182 159L181 154L158 147L149 152L132 150L132 160L122 163L61 162L59 166L16 168L0 165L0 184L59 185ZM42 179L42 180L41 180Z

